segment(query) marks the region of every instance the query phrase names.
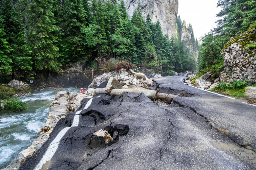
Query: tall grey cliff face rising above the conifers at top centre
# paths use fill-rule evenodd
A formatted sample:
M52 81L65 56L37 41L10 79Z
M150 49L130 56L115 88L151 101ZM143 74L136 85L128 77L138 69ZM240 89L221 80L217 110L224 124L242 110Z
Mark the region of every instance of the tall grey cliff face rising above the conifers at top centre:
M117 0L118 3L121 0ZM149 13L152 22L160 21L163 34L171 37L175 34L175 19L178 14L178 0L124 0L128 15L132 17L134 10L140 2L142 6L142 15L146 18Z

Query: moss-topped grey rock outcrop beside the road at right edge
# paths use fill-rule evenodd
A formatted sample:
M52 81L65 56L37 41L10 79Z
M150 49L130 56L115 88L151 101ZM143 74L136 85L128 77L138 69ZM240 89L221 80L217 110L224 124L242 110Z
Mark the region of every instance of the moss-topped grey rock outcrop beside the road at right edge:
M251 47L247 48L248 44ZM251 81L248 84L256 84L255 45L256 26L251 26L245 33L225 44L221 51L225 65L224 70L220 73L221 81L230 84L233 80L244 81L249 79Z

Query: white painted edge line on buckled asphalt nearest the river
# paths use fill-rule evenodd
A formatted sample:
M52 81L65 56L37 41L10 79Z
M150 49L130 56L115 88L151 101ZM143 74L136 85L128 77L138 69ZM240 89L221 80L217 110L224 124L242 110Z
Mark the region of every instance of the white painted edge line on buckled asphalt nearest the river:
M100 97L100 95L98 96ZM97 98L97 97L94 97ZM92 100L94 98L91 98L85 105L85 107L82 110L87 109L91 104L92 104ZM79 124L79 114L82 110L79 110L75 113L74 116L74 120L72 123L71 127L77 127ZM43 164L45 164L47 161L50 161L53 158L53 155L55 154L55 152L57 151L58 147L59 147L59 142L61 140L61 138L66 134L66 132L71 128L71 127L65 127L64 129L62 129L59 134L54 138L54 140L51 142L51 144L48 146L44 156L42 157L42 159L39 161L39 163L36 165L36 167L34 168L34 170L40 170L43 166Z

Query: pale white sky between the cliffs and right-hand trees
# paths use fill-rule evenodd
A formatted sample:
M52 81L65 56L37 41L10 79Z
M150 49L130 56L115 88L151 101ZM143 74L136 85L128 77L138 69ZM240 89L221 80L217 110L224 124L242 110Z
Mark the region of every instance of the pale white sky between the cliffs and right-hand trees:
M217 8L218 0L179 0L179 13L181 21L186 20L186 25L192 24L195 39L217 27L219 17L215 17L221 8Z

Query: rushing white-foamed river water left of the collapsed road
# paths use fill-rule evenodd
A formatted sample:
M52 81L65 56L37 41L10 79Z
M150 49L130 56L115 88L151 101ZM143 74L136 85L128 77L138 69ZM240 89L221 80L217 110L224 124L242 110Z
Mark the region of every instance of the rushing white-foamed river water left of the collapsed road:
M62 88L69 93L80 93L80 89ZM41 126L46 125L49 106L55 96L53 89L19 97L27 102L27 110L0 112L0 169L6 167L21 150L28 148L38 137Z

